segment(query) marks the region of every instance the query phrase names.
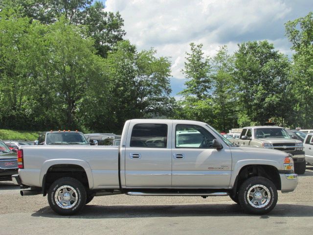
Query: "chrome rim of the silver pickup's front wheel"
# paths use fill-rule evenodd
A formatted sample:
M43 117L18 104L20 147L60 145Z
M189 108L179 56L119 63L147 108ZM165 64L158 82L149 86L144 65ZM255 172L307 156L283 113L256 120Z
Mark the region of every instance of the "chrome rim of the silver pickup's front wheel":
M246 195L248 203L254 208L264 208L270 201L270 192L264 185L254 185Z

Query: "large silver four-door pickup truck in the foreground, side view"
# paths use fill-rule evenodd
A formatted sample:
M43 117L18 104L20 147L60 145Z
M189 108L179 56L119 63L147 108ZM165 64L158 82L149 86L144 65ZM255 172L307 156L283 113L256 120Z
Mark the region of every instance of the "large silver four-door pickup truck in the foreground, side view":
M120 146L22 146L22 195L47 194L53 211L81 211L94 196L227 196L244 211L264 214L277 190L297 186L289 153L236 147L206 123L126 121ZM28 188L28 189L26 189Z

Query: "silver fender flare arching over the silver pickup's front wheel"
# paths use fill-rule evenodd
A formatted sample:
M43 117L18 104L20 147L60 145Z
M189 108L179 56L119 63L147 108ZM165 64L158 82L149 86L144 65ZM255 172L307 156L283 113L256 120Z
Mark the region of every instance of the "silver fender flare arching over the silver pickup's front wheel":
M240 160L235 164L233 172L231 174L230 187L234 186L240 170L246 165L270 165L275 167L277 170L282 167L278 162L273 160L262 160L262 161L260 161L259 159Z

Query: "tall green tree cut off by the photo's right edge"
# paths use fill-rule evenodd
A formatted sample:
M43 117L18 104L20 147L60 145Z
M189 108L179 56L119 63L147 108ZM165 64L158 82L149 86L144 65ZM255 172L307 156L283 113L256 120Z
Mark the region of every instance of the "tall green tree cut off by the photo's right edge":
M294 50L292 64L293 92L297 98L297 125L313 126L313 13L285 24Z

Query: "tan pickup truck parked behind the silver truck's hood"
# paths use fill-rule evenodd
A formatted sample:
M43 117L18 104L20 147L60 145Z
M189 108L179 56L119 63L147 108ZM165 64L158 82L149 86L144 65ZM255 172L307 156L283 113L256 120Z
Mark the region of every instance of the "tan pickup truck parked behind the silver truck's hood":
M257 148L271 148L281 150L292 155L294 171L304 174L306 170L305 153L302 141L294 140L287 131L279 126L248 126L244 127L239 140L239 146Z

